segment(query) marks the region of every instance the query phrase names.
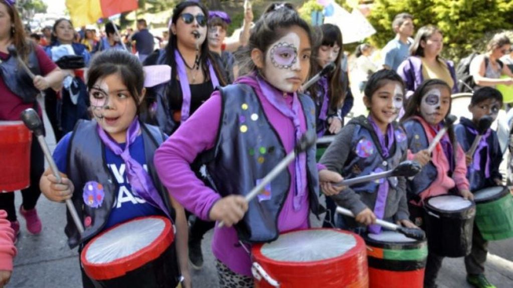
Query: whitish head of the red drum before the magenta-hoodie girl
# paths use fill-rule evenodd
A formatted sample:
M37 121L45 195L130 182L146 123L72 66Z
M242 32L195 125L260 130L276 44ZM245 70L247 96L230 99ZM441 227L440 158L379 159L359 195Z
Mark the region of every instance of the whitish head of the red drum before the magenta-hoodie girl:
M356 244L354 236L336 230L301 230L262 245L261 253L275 261L311 262L341 256Z

